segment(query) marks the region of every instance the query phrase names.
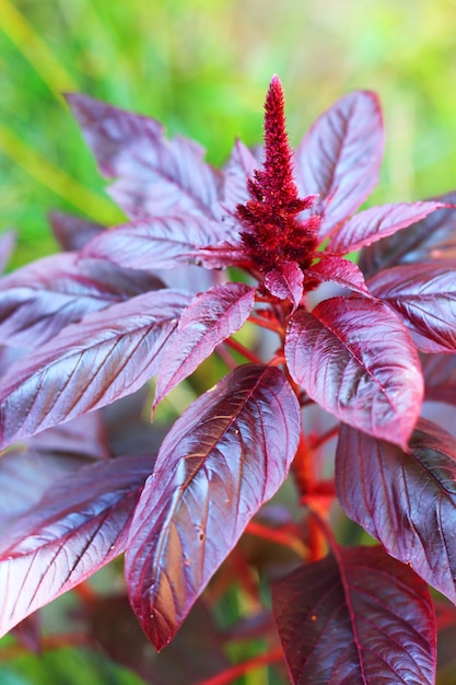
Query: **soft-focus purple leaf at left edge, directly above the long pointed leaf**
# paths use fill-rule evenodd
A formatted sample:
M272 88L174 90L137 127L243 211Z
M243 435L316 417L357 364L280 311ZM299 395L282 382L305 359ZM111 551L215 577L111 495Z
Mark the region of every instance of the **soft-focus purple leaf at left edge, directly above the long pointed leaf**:
M162 287L144 271L72 253L45 257L0 280L0 342L36 348L90 312Z

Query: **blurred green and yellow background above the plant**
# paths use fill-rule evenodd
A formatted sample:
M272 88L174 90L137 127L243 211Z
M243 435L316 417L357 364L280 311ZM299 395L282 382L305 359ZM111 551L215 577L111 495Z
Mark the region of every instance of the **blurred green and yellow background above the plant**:
M0 0L0 231L15 264L54 248L46 214L121 221L60 95L155 117L221 164L261 139L277 72L295 144L356 88L387 131L371 204L456 187L456 0Z

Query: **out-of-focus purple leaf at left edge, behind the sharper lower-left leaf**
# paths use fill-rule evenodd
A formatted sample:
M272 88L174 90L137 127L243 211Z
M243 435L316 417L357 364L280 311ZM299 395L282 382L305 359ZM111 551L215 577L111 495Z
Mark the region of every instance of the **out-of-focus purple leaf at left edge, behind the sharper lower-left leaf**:
M107 457L100 416L49 428L0 458L0 531L36 504L57 478Z

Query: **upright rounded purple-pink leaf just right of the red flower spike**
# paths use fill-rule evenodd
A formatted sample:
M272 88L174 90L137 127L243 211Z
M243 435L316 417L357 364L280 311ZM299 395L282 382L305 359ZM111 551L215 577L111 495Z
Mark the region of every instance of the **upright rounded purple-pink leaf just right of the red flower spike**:
M311 127L296 150L295 171L304 195L320 196L321 237L377 185L383 149L382 112L369 91L346 95Z

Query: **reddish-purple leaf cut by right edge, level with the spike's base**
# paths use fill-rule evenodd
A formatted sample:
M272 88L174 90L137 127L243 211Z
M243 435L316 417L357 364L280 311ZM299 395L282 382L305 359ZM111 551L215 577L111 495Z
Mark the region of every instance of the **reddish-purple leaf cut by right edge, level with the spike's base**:
M422 352L456 352L456 263L407 264L367 286L410 329Z

